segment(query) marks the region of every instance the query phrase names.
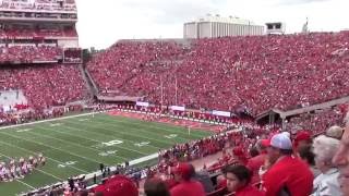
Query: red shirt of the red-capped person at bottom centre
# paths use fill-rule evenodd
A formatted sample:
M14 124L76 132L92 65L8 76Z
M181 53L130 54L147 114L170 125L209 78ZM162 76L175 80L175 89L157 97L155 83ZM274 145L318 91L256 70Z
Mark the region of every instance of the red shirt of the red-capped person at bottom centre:
M197 181L184 181L170 189L171 196L206 196L203 185Z

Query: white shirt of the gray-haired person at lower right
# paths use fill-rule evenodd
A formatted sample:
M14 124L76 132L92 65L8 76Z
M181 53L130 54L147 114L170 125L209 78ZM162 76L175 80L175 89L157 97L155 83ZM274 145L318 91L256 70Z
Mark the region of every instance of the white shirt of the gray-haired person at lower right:
M313 182L312 196L341 196L338 175L339 171L337 168L320 174Z

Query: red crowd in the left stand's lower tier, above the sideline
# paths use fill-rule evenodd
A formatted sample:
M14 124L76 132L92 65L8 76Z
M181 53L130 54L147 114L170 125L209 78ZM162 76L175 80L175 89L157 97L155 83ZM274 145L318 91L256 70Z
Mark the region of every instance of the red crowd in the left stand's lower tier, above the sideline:
M76 64L45 64L0 69L0 89L22 89L28 105L43 110L82 100L86 86Z

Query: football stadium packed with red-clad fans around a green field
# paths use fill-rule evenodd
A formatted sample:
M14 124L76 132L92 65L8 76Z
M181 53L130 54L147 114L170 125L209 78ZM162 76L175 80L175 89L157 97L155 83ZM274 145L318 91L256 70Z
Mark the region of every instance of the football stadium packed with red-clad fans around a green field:
M0 196L349 195L346 26L207 14L96 50L77 5L0 0Z

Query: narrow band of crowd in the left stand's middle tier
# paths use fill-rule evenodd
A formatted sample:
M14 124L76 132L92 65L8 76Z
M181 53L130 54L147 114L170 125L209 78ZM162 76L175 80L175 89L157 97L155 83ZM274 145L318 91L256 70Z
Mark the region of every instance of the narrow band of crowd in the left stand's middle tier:
M12 46L0 47L0 63L57 62L62 58L62 50L50 46Z

